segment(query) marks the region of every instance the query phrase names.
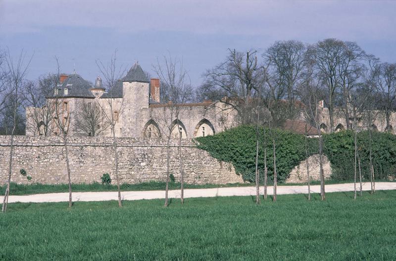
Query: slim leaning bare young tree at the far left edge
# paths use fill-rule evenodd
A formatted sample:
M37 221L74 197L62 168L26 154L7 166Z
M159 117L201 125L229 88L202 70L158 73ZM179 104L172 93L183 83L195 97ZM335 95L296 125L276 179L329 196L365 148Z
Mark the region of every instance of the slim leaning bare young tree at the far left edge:
M30 62L33 58L33 56L26 62L25 61L26 54L21 51L19 54L19 57L14 60L9 52L7 50L5 54L5 63L6 63L6 79L5 79L5 85L6 85L6 95L4 98L8 99L12 96L13 102L12 102L12 111L13 111L13 128L10 133L10 153L9 153L9 161L8 161L8 180L7 180L7 187L5 189L5 194L4 194L4 199L2 203L2 212L6 212L7 210L7 204L8 204L8 195L9 195L9 186L11 182L11 171L12 171L12 156L13 156L13 150L14 150L14 131L16 128L16 115L18 108L21 105L21 93L23 92L23 83L24 83L24 78L26 76L27 69L29 68Z

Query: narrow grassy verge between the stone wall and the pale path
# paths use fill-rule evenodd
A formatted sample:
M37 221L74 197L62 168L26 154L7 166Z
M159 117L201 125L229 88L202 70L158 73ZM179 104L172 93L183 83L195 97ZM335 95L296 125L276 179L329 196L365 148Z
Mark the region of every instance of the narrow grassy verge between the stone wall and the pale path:
M389 180L377 180L376 182L392 182ZM364 180L364 182L370 182L369 180ZM353 183L353 180L326 180L326 184L342 184L342 183ZM319 181L312 181L311 185L319 185ZM268 184L272 186L272 183ZM305 184L292 184L292 183L280 183L281 186L293 186L293 185L305 185ZM184 187L186 189L194 189L194 188L218 188L218 187L246 187L246 186L254 186L253 183L232 183L232 184L204 184L204 185L195 185L195 184L185 184ZM179 182L170 182L169 189L180 189ZM142 182L138 184L121 184L121 191L145 191L145 190L165 190L165 182ZM11 183L10 185L10 195L32 195L32 194L44 194L44 193L58 193L58 192L68 192L69 185L68 184L16 184ZM116 185L103 185L100 183L91 183L91 184L72 184L72 191L74 192L95 192L95 191L117 191ZM0 195L5 193L5 185L0 187Z

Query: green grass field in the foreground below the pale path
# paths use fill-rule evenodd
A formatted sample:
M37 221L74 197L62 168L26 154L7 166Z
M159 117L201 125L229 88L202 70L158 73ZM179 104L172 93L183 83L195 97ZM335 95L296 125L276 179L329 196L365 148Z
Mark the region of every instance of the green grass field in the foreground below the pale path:
M0 260L394 260L396 191L9 204Z

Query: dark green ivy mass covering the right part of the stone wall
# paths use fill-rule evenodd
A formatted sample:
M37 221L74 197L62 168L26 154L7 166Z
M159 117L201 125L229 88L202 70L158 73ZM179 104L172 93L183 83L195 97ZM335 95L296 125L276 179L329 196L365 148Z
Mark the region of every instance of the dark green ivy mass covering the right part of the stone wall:
M264 174L263 128L259 128L259 171L260 180ZM276 155L278 180L284 181L291 170L305 159L305 137L290 131L273 130L276 137ZM272 141L267 135L267 166L269 181L273 179ZM372 133L373 164L376 178L387 179L396 173L396 136L389 133ZM358 149L361 158L362 173L369 178L369 133L358 133ZM197 138L198 148L206 150L214 158L230 162L237 174L242 174L245 181L254 181L256 129L255 126L240 126L220 132L213 136ZM353 132L341 131L324 134L324 154L329 158L336 180L353 178L354 146ZM318 139L308 139L308 155L318 153Z

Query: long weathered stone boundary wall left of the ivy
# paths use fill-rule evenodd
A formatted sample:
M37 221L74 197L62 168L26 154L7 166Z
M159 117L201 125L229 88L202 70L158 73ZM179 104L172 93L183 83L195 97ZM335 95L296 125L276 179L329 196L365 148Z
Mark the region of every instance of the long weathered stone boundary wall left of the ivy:
M0 183L7 179L9 136L0 136ZM65 153L58 136L15 136L12 182L67 183ZM165 180L166 141L160 139L117 138L120 182L138 183ZM187 183L243 182L232 164L219 162L193 142L183 140L182 155ZM115 181L112 139L109 137L70 137L69 158L73 183L100 181L108 172ZM170 170L180 179L177 141L171 141ZM25 169L32 176L28 181L19 173Z

